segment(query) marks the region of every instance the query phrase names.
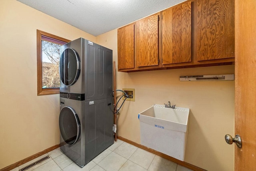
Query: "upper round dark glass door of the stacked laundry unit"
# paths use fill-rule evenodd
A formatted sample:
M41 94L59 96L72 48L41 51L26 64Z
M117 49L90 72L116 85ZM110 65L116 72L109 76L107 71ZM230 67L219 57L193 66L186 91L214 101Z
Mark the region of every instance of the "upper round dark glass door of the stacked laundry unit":
M60 56L60 80L65 85L72 85L80 74L80 59L75 50L67 48Z

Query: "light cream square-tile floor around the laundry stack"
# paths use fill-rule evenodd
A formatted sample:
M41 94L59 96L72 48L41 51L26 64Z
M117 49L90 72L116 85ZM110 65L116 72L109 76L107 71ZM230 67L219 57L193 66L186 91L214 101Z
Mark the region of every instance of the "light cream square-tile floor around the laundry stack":
M31 167L27 171L191 171L120 139L83 168L76 165L58 148L16 167L12 171L18 171L47 155L50 156L50 159Z

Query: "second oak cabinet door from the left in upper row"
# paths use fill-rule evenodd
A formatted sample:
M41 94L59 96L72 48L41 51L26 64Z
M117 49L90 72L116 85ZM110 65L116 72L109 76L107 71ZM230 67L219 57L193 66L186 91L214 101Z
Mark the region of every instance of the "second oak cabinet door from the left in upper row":
M158 15L136 22L136 66L158 65Z

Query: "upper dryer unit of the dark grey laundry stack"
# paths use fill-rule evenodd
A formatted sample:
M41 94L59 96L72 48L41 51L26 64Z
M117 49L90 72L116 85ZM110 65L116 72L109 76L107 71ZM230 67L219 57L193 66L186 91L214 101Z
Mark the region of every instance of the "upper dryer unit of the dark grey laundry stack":
M79 38L60 47L60 92L113 97L112 50Z

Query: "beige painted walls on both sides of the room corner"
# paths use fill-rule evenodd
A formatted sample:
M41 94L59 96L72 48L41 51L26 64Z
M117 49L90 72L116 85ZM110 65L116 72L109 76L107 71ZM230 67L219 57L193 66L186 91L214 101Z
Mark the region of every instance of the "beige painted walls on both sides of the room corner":
M116 65L117 30L94 37L16 0L0 2L1 169L59 143L59 96L37 96L36 29L106 46ZM199 74L234 74L234 66L117 72L117 88L136 93L136 101L122 107L118 135L140 143L138 113L171 101L191 110L185 161L212 171L233 170L234 146L224 135L234 135L234 81L179 81L179 76Z

